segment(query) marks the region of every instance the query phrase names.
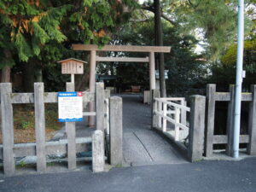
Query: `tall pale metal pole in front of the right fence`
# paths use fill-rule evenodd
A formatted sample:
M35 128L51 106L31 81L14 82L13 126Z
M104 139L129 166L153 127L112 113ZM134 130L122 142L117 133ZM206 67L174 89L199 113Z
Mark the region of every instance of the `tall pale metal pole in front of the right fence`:
M238 0L238 40L236 60L236 95L235 95L235 118L234 118L234 143L233 157L239 157L239 136L241 118L241 82L243 62L243 41L244 41L244 0Z

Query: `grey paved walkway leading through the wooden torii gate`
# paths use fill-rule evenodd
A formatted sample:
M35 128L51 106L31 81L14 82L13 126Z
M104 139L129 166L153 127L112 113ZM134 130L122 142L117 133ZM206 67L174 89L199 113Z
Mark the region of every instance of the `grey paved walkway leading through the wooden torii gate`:
M142 166L150 164L186 163L183 156L155 131L151 130L150 107L137 95L123 98L125 164Z

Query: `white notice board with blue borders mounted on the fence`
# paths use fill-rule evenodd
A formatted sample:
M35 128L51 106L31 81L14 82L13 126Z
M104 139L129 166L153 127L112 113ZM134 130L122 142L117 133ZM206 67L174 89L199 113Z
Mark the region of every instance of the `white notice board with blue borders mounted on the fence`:
M82 92L58 93L59 122L83 120Z

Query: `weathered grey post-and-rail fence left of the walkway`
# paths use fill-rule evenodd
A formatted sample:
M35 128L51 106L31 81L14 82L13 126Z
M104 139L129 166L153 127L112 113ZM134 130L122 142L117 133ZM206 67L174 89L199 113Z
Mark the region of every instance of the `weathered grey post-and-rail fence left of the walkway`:
M74 84L67 83L67 91L73 91ZM37 156L37 171L46 171L46 155L67 154L68 169L75 169L76 153L88 151L92 144L92 166L96 172L102 171L102 161L105 161L102 148L102 133L104 131L104 87L96 84L96 94L84 91L83 102L95 102L96 112L83 112L84 116L96 115L96 141L91 137L76 138L75 122L66 122L67 140L45 142L44 103L58 102L57 92L44 92L44 83L34 84L34 93L12 93L12 84L0 84L1 116L3 145L0 145L0 159L3 159L3 172L8 175L15 173L15 158ZM95 98L96 97L96 98ZM13 104L34 103L36 143L14 143ZM99 151L100 150L100 151ZM103 152L102 152L103 150ZM99 168L100 167L100 168Z

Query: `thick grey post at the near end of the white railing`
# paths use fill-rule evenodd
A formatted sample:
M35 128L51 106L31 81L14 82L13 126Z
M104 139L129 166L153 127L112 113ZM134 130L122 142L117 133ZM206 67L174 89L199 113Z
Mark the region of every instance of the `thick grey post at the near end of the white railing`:
M191 96L190 126L189 126L189 160L201 160L204 152L204 131L206 97Z

